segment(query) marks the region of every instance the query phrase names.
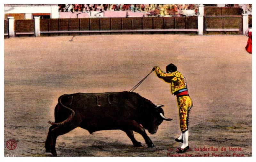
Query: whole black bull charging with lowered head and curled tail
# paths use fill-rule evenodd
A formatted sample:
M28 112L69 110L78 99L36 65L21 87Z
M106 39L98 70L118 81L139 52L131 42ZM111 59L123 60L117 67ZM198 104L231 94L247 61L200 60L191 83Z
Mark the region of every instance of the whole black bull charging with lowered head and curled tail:
M154 147L145 129L154 134L163 120L172 120L164 116L162 106L154 105L137 93L126 91L62 95L55 107L55 122L49 121L52 126L45 141L46 151L57 156L57 137L76 127L90 133L123 130L135 147L142 146L133 136L135 131L143 136L148 147Z

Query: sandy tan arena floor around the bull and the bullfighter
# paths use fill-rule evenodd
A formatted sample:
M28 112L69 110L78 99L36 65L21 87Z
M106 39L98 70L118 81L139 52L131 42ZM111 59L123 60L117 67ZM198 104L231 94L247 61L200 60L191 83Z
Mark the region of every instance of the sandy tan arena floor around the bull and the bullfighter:
M4 156L44 151L62 94L129 91L154 66L174 63L188 83L191 151L177 154L178 108L169 84L155 74L134 91L163 104L164 121L149 134L155 148L135 148L121 130L76 128L57 138L58 156L252 156L252 55L242 35L91 35L4 39ZM224 150L226 149L226 151ZM230 150L231 149L231 150Z

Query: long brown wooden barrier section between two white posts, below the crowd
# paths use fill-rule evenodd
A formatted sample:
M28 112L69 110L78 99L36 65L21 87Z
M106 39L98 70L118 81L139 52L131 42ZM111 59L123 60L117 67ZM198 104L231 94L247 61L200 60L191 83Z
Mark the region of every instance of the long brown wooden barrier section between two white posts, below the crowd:
M154 30L197 32L197 17L62 18L41 19L41 33L142 32ZM186 30L185 30L186 29ZM170 30L166 30L170 31Z

